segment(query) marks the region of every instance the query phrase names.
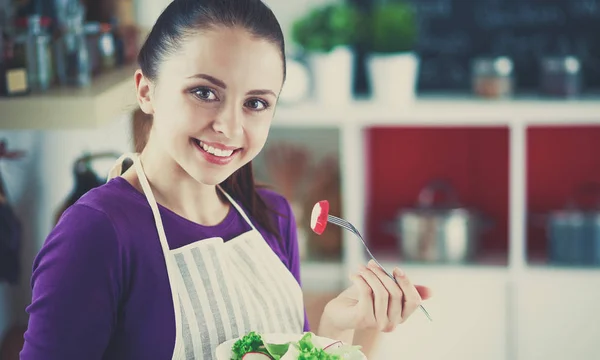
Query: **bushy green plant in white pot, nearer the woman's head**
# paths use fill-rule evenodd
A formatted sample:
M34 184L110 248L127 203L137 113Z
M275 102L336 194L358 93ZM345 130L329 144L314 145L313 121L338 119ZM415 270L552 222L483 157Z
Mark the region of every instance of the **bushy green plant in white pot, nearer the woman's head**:
M354 50L360 16L347 3L312 8L292 25L294 43L304 51L312 75L314 96L328 105L352 99Z

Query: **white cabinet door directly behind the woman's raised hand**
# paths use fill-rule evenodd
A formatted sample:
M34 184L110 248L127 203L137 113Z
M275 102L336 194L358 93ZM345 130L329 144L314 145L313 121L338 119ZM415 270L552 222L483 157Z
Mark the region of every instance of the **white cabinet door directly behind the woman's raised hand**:
M428 273L432 271L428 270ZM435 275L407 270L417 284L431 286L433 297L393 333L382 334L374 360L506 360L506 276L469 270Z

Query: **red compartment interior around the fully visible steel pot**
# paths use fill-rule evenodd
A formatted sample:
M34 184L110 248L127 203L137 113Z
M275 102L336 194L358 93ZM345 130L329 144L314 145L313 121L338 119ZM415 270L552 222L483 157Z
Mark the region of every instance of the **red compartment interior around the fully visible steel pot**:
M387 228L400 211L419 206L419 194L432 181L441 180L454 190L458 206L482 216L482 231L472 234L479 243L476 256L503 254L507 262L508 127L372 127L365 137L366 237L374 250L401 255ZM441 195L435 204L453 201L452 193L435 194Z

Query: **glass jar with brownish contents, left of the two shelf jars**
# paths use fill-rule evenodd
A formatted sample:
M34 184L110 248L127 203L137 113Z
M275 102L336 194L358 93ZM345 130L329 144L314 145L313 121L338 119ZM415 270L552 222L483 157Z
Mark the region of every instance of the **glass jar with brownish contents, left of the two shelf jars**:
M472 63L473 92L484 98L504 98L513 94L513 62L505 56L476 58Z

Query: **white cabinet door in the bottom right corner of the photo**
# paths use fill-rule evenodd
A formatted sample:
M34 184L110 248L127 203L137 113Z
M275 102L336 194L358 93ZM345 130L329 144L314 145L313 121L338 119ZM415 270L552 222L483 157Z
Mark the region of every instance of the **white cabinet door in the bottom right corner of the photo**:
M600 359L600 273L539 270L519 282L518 360Z

